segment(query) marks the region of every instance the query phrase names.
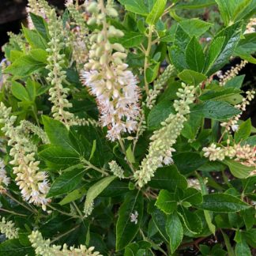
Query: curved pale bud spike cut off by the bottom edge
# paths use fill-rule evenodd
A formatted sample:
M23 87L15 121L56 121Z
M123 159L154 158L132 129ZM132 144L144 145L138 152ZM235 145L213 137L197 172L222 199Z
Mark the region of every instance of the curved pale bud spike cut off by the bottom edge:
M94 247L85 247L81 245L79 248L70 247L68 248L66 244L61 246L51 245L50 239L43 239L42 234L39 231L32 232L28 235L32 247L36 250L36 255L39 256L102 256L98 251L94 251Z

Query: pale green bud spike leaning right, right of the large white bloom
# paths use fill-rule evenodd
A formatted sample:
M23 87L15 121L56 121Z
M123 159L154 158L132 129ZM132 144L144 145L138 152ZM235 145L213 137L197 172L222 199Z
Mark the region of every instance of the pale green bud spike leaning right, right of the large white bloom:
M134 178L137 180L138 186L144 186L154 176L157 168L163 164L172 164L172 152L175 149L172 145L175 144L177 137L183 130L183 123L186 121L184 115L190 113L189 105L194 101L194 86L182 85L179 88L177 96L179 100L175 100L174 107L177 113L168 116L164 122L161 123L162 128L156 130L149 145L149 154L141 162L140 170L136 171Z

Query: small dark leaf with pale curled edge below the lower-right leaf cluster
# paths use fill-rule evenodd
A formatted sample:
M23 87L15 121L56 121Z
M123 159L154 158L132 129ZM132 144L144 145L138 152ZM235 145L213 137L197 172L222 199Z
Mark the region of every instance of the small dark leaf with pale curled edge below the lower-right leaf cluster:
M198 234L201 232L201 219L197 213L191 212L181 205L179 206L178 213L179 216L182 217L183 223L189 232L193 234Z

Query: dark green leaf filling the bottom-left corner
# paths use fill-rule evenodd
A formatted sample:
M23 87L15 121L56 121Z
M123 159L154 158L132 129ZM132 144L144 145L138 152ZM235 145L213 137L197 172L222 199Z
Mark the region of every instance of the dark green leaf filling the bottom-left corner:
M1 254L5 256L33 255L33 249L22 246L19 239L9 239L0 243Z

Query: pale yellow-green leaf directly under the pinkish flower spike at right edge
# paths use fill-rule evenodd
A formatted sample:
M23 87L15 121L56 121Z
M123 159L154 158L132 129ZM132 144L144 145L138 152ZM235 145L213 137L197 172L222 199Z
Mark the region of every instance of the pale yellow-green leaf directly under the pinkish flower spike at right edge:
M249 167L244 164L240 164L235 160L224 160L223 163L227 164L232 175L239 179L247 178L250 175L250 172L254 171L255 169L254 167Z

